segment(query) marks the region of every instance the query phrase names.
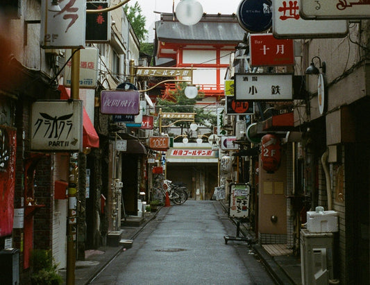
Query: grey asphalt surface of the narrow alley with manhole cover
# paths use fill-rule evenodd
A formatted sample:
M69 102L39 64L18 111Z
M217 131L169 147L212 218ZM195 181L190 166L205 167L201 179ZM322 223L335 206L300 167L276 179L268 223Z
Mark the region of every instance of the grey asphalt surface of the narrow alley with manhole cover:
M274 284L217 201L163 207L91 284Z

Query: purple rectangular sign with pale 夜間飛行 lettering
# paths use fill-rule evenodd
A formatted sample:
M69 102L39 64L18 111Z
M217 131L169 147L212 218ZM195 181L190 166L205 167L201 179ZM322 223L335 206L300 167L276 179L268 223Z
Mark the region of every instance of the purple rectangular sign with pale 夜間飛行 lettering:
M137 90L104 90L101 92L101 114L133 114L140 112L140 93Z

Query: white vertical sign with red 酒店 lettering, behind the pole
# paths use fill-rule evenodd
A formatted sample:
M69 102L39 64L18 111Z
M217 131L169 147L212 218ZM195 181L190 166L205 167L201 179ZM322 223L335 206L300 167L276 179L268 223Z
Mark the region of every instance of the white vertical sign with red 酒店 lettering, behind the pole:
M65 58L70 58L71 49L65 50ZM94 89L98 82L98 56L99 50L92 47L81 49L80 51L80 88ZM65 66L65 76L63 84L71 86L72 60Z

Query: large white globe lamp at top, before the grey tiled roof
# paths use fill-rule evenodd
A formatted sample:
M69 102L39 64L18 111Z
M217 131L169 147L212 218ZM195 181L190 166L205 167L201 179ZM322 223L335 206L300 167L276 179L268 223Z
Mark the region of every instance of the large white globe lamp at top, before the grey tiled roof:
M181 24L192 26L203 16L203 7L196 0L182 0L176 6L176 17Z

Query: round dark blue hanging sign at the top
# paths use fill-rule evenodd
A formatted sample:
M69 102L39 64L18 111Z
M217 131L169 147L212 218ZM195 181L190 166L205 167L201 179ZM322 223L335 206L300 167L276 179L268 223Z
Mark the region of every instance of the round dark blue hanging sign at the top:
M272 6L269 0L242 0L237 8L237 20L251 33L267 31L272 26Z

